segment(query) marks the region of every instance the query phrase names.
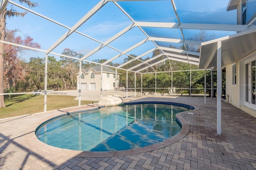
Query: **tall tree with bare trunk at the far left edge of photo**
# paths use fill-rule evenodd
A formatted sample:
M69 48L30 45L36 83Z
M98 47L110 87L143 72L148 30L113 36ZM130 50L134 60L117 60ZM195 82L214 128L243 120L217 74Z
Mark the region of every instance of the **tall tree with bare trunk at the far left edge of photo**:
M31 2L30 0L19 0L20 3L27 4L30 8L36 7L38 4ZM14 16L21 16L24 17L26 12L17 12L13 8L7 10L5 6L2 13L0 14L0 40L4 41L6 37L6 17L9 18ZM4 43L0 43L0 93L4 93ZM4 96L0 95L0 108L5 107L4 104Z

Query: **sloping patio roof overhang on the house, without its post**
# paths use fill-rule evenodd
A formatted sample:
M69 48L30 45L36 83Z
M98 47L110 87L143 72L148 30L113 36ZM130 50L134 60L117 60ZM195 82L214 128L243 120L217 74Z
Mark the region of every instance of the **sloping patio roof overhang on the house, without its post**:
M218 41L221 41L221 66L223 68L256 51L256 29L202 43L199 69L217 66Z

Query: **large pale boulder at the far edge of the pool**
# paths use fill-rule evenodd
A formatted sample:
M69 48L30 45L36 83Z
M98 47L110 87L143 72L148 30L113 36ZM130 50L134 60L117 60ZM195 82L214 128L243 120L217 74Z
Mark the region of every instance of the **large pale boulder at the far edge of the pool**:
M121 104L124 104L124 101L122 96L119 95L107 95L102 97L98 102L98 105L105 106L117 106Z

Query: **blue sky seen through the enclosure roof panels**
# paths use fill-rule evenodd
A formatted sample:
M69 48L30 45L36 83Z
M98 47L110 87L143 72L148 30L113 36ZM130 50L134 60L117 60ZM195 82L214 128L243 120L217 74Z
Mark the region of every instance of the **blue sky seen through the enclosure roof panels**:
M35 12L42 14L52 20L62 23L68 27L72 27L80 18L90 11L100 0L44 0L39 2L38 7L32 8ZM236 24L236 10L226 12L229 0L175 0L177 12L180 21L183 23L226 23ZM14 1L18 3L18 0ZM163 1L130 1L118 2L118 4L136 21L153 21L153 22L177 22L174 10L170 0ZM23 6L27 7L25 4ZM10 7L10 5L9 5ZM14 6L19 12L21 10ZM23 34L31 36L35 42L41 45L41 49L48 49L59 37L61 37L68 29L44 20L34 14L28 12L24 17L8 18L6 21L7 29L19 29ZM121 10L113 3L108 2L100 9L92 18L77 29L100 42L104 42L128 25L132 21L121 12ZM152 36L169 37L181 39L179 29L163 29L163 28L146 28L146 33ZM185 38L189 39L199 30L184 30ZM227 31L208 31L208 34L216 34L216 37L223 37L234 34ZM22 34L21 34L22 35ZM151 35L150 35L151 36ZM122 35L110 45L120 51L123 51L139 41L146 38L146 35L138 27L134 27L126 34ZM93 41L87 37L83 37L78 33L73 33L65 41L63 41L53 52L62 53L65 48L70 48L77 53L86 55L88 52L98 47L100 43ZM146 43L142 47L138 47L128 54L140 55L154 47L153 43ZM88 58L94 59L110 59L119 52L104 47L94 55ZM44 57L43 53L27 52L22 58ZM150 53L146 57L151 57ZM116 59L116 63L122 63L123 58ZM56 56L56 58L58 58Z

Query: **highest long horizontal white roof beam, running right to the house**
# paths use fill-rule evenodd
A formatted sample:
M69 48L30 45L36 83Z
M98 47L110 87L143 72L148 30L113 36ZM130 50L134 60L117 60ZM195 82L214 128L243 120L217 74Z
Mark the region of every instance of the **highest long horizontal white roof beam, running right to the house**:
M182 29L207 29L222 31L248 31L255 29L256 25L232 25L232 24L210 24L210 23L168 23L168 22L135 22L138 27L161 27Z

